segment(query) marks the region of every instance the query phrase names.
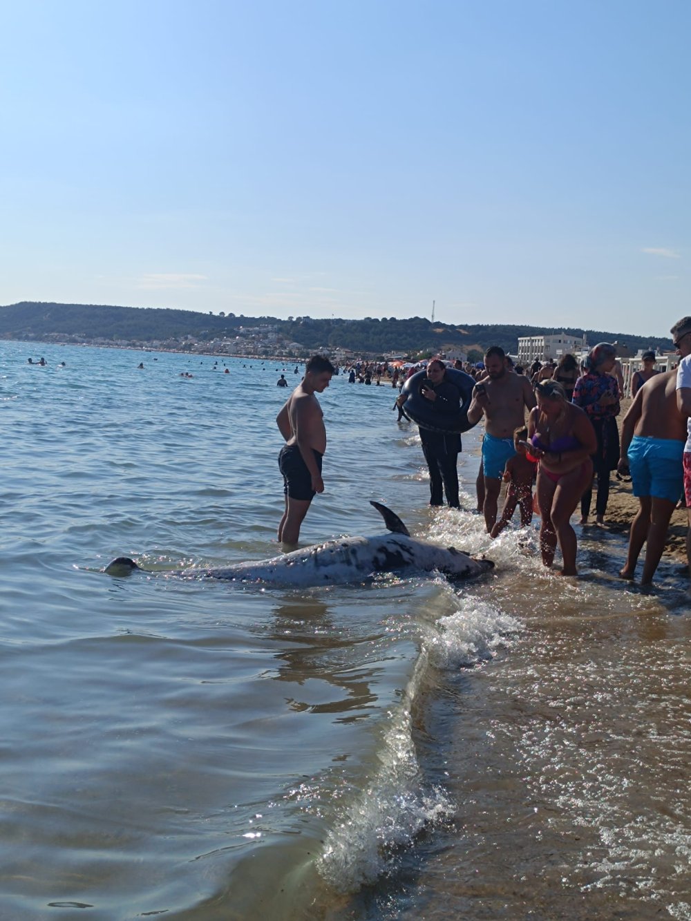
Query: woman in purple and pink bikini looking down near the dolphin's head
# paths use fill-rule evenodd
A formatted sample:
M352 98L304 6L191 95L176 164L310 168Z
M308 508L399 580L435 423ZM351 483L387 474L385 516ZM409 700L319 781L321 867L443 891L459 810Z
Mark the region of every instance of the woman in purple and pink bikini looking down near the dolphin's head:
M558 541L563 558L560 574L576 576L576 532L570 518L592 480L595 432L588 416L567 402L558 381L538 383L535 396L537 406L528 417L528 437L531 455L539 462L540 550L545 566L551 566Z

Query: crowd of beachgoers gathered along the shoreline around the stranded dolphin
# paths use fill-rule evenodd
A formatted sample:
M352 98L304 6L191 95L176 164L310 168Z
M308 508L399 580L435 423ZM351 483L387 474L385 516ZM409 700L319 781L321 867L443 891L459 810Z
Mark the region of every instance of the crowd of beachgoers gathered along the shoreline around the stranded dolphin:
M591 348L581 364L565 355L558 363L536 361L527 369L514 366L503 349L486 350L484 361L445 362L408 367L387 363L358 363L346 368L350 382L377 384L386 378L401 388L405 379L424 368L420 397L428 404L431 423L420 423L422 449L429 471L429 504L460 508L458 455L460 431L484 420L481 463L476 480L477 511L487 532L498 537L519 508L521 527L533 513L540 516L540 550L545 566L553 565L556 548L562 556L559 572L577 575L578 539L571 519L580 505L580 525L591 523L593 486L597 483L594 524L603 527L610 476L631 478L638 498L620 575L635 577L638 556L646 547L641 584L649 584L662 557L675 507L689 507L686 550L691 568L691 317L675 323L673 346L681 357L678 368L659 372L655 354L642 356L632 379L633 402L617 426L623 398L623 378L615 344ZM472 398L463 407L463 387L454 371L470 380ZM299 525L312 497L323 490L322 454L326 435L316 394L329 385L334 367L313 356L304 379L293 391L276 422L286 445L279 466L284 474L286 509L278 537L296 543ZM285 386L279 381L281 386ZM470 392L470 391L468 391ZM399 418L409 394L402 391L395 406ZM462 414L467 425L453 425ZM450 424L451 422L451 424ZM501 484L506 484L499 514ZM534 495L533 495L534 486Z

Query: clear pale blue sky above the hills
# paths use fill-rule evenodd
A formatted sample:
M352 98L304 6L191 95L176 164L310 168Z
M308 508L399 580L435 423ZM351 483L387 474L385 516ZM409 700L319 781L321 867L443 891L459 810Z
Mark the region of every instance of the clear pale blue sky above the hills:
M0 304L691 314L687 0L0 3Z

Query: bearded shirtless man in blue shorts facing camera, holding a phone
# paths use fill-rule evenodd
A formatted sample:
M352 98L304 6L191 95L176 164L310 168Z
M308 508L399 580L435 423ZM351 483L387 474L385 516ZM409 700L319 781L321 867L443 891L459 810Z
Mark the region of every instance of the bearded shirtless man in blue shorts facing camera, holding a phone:
M485 355L486 378L474 388L468 409L468 422L475 425L485 415L485 437L482 442L482 467L485 484L486 529L497 522L497 503L501 477L506 462L513 457L513 433L525 425L525 411L533 409L535 396L530 381L511 374L506 367L505 354L492 345Z

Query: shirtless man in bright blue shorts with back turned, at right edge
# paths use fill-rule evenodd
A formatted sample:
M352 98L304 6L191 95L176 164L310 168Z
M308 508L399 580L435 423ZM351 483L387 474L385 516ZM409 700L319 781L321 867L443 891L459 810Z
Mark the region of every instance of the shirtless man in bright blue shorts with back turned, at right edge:
M638 513L631 524L627 562L619 573L632 579L646 544L641 585L650 585L660 563L672 513L684 486L686 420L676 402L676 369L638 390L622 422L620 474L631 473Z

